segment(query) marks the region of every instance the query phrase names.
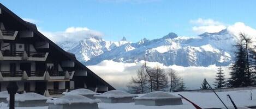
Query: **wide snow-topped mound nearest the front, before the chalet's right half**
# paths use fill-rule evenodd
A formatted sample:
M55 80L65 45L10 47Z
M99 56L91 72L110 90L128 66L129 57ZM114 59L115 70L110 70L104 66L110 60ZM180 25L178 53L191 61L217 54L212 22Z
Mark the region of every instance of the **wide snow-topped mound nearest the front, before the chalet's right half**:
M55 98L55 99L49 99L46 101L46 103L53 103L55 105L59 104L78 104L78 103L87 103L87 104L94 104L101 102L100 100L92 100L90 98L84 97L82 95L65 95L60 98Z

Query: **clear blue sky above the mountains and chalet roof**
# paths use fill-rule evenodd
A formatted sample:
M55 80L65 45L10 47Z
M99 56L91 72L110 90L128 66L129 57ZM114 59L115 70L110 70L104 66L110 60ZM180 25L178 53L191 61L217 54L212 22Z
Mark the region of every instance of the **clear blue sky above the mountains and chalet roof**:
M69 27L86 27L114 41L123 36L133 42L144 37L156 39L170 32L195 36L203 32L197 31L200 26L228 26L236 22L256 28L256 1L249 0L2 0L1 3L37 24L40 30L56 33Z

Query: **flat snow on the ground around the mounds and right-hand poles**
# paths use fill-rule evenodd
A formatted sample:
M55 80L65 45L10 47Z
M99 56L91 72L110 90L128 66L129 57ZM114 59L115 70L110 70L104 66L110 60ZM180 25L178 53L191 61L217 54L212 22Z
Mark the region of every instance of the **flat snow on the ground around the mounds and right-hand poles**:
M230 91L230 92L217 92L219 97L225 102L227 106L232 106L230 100L227 97L227 94L231 96L233 101L237 106L256 106L256 89L252 90L252 98L250 99L250 90L246 91ZM181 94L189 100L193 101L195 104L203 108L221 108L224 107L221 101L218 100L214 93L198 93L198 92L175 92L171 93L178 97L177 94ZM139 94L141 97L145 94ZM144 106L144 105L134 105L133 103L116 103L116 104L107 104L107 103L98 103L99 109L194 109L186 100L182 99L183 105L175 106ZM8 109L7 104L1 103L0 109ZM16 107L16 109L47 109L45 107Z

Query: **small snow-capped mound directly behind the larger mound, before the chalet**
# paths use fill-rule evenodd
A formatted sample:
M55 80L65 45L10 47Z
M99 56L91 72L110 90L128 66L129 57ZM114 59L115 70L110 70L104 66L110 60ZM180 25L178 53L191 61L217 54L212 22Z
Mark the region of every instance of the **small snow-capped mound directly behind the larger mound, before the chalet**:
M94 95L94 94L100 94L100 93L93 92L90 89L79 88L79 89L75 89L74 91L63 92L62 94L64 94L64 95Z

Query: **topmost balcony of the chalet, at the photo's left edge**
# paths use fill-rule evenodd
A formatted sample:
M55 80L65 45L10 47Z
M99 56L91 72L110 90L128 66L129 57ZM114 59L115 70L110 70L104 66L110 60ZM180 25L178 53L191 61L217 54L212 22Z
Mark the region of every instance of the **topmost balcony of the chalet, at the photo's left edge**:
M18 31L0 30L0 40L15 40Z

